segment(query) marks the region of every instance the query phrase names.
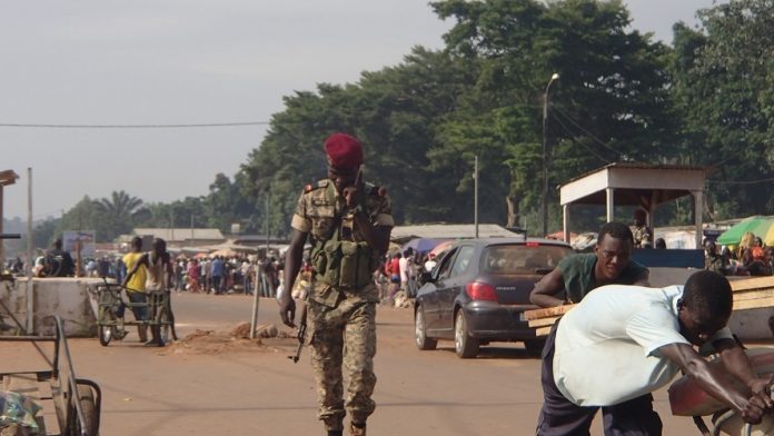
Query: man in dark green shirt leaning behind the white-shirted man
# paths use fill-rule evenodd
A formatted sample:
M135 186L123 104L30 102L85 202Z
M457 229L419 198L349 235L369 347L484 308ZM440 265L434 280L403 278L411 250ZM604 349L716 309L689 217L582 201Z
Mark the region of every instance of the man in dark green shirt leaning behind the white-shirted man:
M647 268L631 260L634 237L621 222L607 222L599 229L594 252L569 256L548 272L529 296L540 307L580 303L594 288L604 285L649 286ZM564 298L559 298L564 291Z

